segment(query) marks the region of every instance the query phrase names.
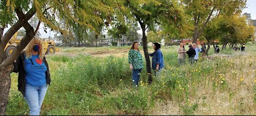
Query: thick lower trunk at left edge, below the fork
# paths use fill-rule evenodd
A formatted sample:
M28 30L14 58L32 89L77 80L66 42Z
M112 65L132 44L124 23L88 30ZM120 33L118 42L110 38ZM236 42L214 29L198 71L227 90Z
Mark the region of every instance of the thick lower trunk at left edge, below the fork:
M13 65L7 67L0 67L0 115L5 115L6 106L9 99L9 92L11 88L10 73L13 70Z

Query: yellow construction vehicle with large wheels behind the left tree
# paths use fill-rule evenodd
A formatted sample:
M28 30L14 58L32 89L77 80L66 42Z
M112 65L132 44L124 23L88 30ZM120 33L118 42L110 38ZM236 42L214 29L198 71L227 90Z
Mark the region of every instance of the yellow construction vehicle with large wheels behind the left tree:
M11 53L13 52L13 50L15 49L15 47L18 46L18 44L20 44L20 41L19 39L17 39L17 35L18 35L19 32L16 32L13 37L11 38L11 40L6 44L5 46L5 53L7 56L11 55ZM43 47L44 47L44 51L45 51L45 54L54 54L56 51L59 51L58 48L56 48L55 46L55 43L53 41L45 41L45 40L42 40L42 43L43 43Z

